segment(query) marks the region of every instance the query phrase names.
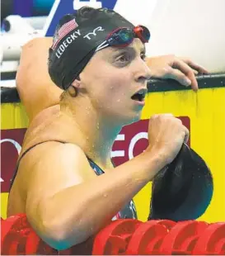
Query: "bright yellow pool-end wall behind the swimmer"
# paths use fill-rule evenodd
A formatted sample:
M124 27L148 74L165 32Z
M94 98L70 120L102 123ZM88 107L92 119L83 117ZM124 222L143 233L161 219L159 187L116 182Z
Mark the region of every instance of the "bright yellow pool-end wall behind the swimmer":
M21 103L1 104L2 129L26 128L28 120ZM199 92L150 92L142 119L153 114L172 113L190 117L190 145L213 173L214 192L209 208L199 220L225 221L225 88L206 88ZM138 219L147 220L151 184L134 197ZM1 216L6 218L7 193L1 193Z

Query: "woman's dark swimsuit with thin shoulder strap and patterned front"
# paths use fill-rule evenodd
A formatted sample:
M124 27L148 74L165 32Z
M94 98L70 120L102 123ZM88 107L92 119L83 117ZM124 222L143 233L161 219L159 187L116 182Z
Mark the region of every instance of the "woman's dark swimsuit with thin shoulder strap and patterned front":
M65 142L59 141L59 140L54 140L54 141L57 141L57 142L60 142L60 143L65 143ZM40 144L45 143L45 142L47 142L47 141L40 142L36 145L40 145ZM16 164L16 170L15 170L15 173L14 173L12 181L11 181L11 187L12 187L12 183L14 182L14 180L16 178L16 173L18 171L19 164L21 163L21 159L24 157L24 155L27 152L30 151L30 149L33 149L36 145L33 145L29 149L26 149L26 151L23 152L23 154L21 154L20 159L18 159L17 164ZM104 171L95 162L93 162L88 157L87 157L87 159L88 159L89 164L91 165L91 168L95 171L96 175L101 175L101 174L104 173ZM10 187L10 189L11 189L11 187ZM132 200L132 201L129 201L129 203L126 206L124 206L124 208L121 211L119 211L118 214L112 220L115 220L115 219L137 219L137 218L138 218L137 211L136 211L136 208L134 206L134 201Z

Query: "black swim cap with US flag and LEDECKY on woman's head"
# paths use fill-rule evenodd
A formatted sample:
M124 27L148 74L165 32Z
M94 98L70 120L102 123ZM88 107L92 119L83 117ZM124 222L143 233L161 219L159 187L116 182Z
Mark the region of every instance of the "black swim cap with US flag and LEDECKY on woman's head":
M65 15L56 27L53 45L49 48L49 75L66 90L94 55L97 46L111 31L134 25L119 13L107 9L82 7L76 14Z

